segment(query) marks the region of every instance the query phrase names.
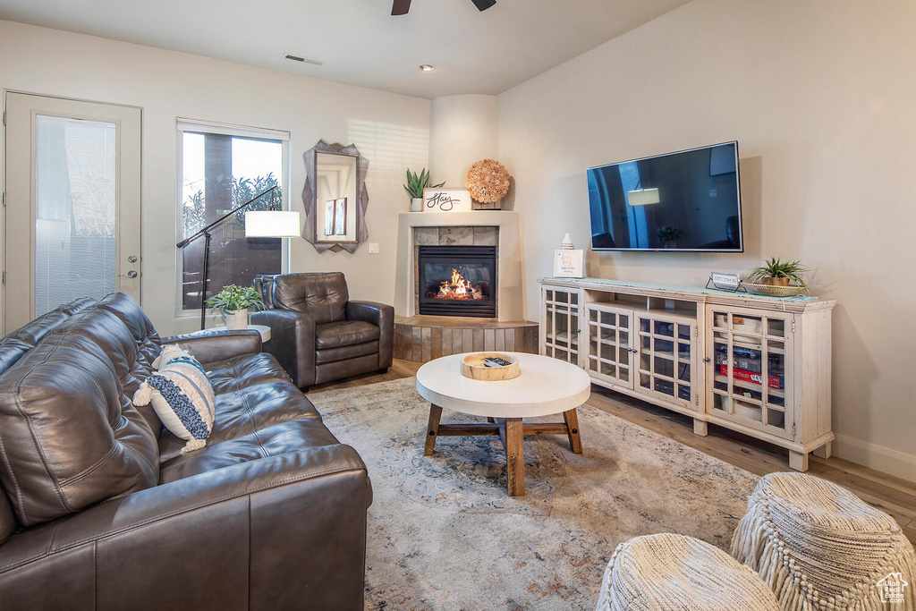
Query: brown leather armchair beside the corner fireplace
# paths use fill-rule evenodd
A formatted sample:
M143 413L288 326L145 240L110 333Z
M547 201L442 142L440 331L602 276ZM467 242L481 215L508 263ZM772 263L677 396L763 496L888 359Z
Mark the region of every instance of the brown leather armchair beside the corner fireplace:
M340 272L280 274L256 279L267 310L251 321L270 327L264 349L300 388L391 366L395 311L351 301Z

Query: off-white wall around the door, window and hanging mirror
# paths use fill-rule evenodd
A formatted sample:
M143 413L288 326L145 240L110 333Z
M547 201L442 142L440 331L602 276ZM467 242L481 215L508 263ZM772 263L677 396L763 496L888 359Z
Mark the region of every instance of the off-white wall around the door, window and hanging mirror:
M355 299L394 300L398 213L407 212L404 171L429 159L430 101L186 53L0 21L0 88L143 108L143 306L160 333L176 321L176 117L291 132L289 193L303 212L302 153L324 138L354 143L369 159L369 241L353 254L318 254L293 239L293 271L339 270ZM10 289L15 289L10 287Z

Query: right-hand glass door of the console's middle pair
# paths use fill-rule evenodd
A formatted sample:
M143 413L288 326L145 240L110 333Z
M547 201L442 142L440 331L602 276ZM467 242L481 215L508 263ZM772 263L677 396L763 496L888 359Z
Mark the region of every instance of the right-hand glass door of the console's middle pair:
M637 316L638 388L698 409L693 398L692 338L696 322L679 317Z

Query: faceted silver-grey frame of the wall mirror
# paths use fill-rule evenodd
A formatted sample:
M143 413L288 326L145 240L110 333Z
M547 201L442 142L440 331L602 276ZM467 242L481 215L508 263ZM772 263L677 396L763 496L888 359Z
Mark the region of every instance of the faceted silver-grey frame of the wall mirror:
M353 242L319 242L318 237L318 189L316 181L318 180L318 153L327 153L330 155L345 155L356 158L356 239ZM305 235L303 237L309 241L320 253L325 250L339 252L345 250L348 253L356 252L356 248L363 244L369 237L369 232L365 228L365 209L369 206L369 191L365 189L365 174L369 169L368 160L363 157L356 145L344 147L341 144L328 144L324 140L319 140L311 149L302 154L305 160L305 187L302 188L302 203L305 204Z

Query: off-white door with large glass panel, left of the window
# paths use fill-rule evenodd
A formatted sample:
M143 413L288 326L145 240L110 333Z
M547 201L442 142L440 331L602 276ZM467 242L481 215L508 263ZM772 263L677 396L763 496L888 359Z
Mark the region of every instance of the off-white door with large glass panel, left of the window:
M5 333L80 298L140 300L140 109L6 93Z

